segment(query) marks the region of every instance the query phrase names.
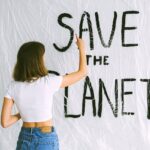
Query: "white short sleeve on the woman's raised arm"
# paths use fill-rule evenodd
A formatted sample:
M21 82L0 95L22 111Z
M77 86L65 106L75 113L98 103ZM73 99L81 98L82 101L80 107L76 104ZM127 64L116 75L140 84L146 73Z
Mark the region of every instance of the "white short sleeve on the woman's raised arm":
M49 84L51 88L53 89L54 92L57 92L61 86L63 75L54 75L49 77L50 77Z

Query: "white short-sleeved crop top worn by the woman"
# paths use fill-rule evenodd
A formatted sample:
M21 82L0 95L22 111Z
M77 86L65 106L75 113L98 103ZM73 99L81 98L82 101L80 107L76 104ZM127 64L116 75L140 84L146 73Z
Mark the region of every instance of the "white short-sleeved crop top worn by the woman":
M52 118L53 94L62 79L61 75L48 74L30 83L12 80L4 97L14 100L23 121L46 121Z

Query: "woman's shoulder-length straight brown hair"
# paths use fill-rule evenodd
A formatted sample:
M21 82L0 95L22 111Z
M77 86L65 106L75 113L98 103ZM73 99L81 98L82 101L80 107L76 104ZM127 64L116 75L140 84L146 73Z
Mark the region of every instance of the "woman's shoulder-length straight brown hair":
M45 47L42 43L37 41L24 43L17 54L17 63L13 70L14 80L30 82L33 77L47 75L48 70L43 60L44 53Z

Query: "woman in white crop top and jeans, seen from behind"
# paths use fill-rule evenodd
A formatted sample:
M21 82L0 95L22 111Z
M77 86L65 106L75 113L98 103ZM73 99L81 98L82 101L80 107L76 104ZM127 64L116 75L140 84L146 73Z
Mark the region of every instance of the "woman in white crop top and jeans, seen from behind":
M67 75L50 75L44 66L44 45L24 43L17 54L13 78L4 95L1 125L7 128L20 118L23 125L16 150L59 150L56 129L52 123L52 97L59 88L67 87L87 75L84 41L76 36L79 69ZM13 104L19 113L11 115Z

